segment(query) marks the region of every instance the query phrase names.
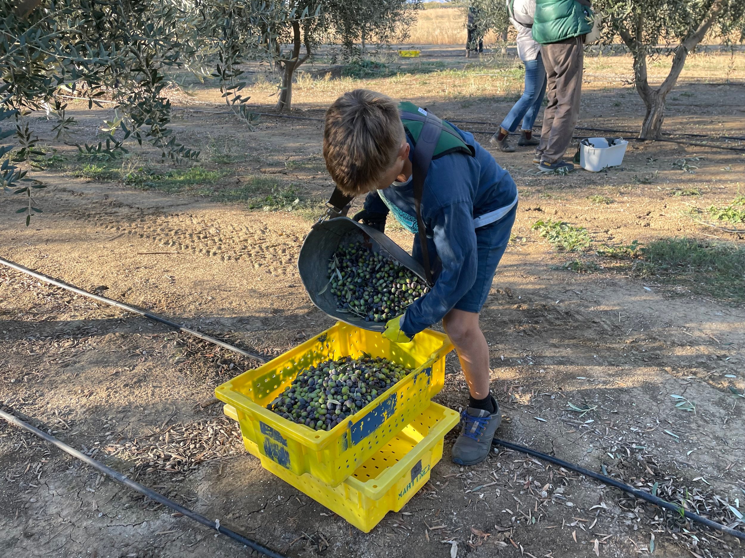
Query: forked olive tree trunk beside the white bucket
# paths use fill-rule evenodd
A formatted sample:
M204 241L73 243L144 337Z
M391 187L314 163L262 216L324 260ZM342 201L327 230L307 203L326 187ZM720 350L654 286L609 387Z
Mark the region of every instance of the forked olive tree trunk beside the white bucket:
M647 113L644 115L644 122L641 124L639 131L640 139L657 139L662 137L662 122L665 121L665 103L668 93L680 77L680 72L685 65L685 59L688 53L692 51L703 40L711 25L723 8L724 0L716 0L711 4L702 20L698 23L697 28L691 29L691 33L683 39L676 48L673 49L673 63L670 68L668 77L657 87L653 88L647 79L647 55L650 54L650 47L642 42L642 31L644 29L643 16L638 16L635 20L633 30L621 28L619 34L624 43L631 51L634 57L634 83L636 91L644 101L647 107Z

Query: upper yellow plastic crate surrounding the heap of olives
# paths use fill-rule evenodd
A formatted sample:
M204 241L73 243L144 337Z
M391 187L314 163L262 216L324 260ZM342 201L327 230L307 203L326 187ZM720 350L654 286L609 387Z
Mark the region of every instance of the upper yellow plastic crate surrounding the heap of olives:
M244 440L256 443L260 455L295 475L308 472L335 487L428 408L431 397L443 388L445 356L452 348L447 336L432 330L417 333L411 343L396 344L380 333L337 322L320 336L218 386L215 396L235 407ZM266 408L303 369L362 353L413 372L328 432L293 423Z

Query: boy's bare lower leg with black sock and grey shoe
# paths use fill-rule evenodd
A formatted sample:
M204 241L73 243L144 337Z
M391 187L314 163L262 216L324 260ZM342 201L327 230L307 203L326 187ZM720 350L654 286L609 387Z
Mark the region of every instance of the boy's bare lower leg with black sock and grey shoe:
M455 345L471 394L463 411L460 436L453 444L452 460L459 465L475 465L489 455L501 422L499 406L489 394L489 345L475 312L451 310L443 319L443 327Z

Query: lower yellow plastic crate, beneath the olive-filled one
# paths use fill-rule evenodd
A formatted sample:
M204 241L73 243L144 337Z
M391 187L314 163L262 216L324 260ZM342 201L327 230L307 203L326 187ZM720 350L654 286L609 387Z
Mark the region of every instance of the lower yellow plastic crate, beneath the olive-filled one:
M224 411L238 420L235 408L225 405ZM432 467L443 457L445 434L458 420L456 411L430 403L337 487L330 487L308 473L295 475L261 455L251 440L244 439L244 443L261 460L264 469L368 533L386 513L401 510L429 480Z

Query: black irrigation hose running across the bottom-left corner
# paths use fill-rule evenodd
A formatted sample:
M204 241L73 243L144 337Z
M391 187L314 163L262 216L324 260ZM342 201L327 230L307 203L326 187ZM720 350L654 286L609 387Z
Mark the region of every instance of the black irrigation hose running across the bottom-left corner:
M241 545L246 545L253 551L260 552L261 554L264 554L270 558L286 558L283 554L279 554L279 552L275 552L271 548L267 548L264 545L259 544L259 542L256 542L255 540L248 539L247 537L241 535L241 533L236 533L234 530L223 527L222 525L220 525L219 519L215 521L207 519L205 516L202 516L199 513L191 511L188 508L177 504L176 502L169 498L166 498L162 494L156 493L154 490L150 490L148 487L142 486L142 484L139 484L139 482L135 482L127 476L122 475L120 472L116 472L114 469L111 469L110 467L102 464L101 461L96 461L95 459L90 458L88 455L85 455L83 452L77 451L77 449L75 449L74 447L68 446L66 443L57 440L56 437L51 436L46 432L42 432L41 430L34 428L34 426L23 422L18 417L13 416L13 414L7 413L0 409L0 417L7 420L7 422L12 424L13 426L18 426L20 429L28 430L28 432L31 432L31 434L36 434L38 437L42 438L42 440L46 440L48 443L54 444L54 446L57 446L63 452L69 453L70 455L72 455L72 457L80 459L80 461L83 461L83 463L92 466L94 469L98 469L98 471L101 471L105 475L109 475L115 481L121 482L121 484L130 487L132 490L136 490L140 494L148 496L148 498L158 502L159 504L170 507L171 510L176 510L178 513L183 513L183 515L185 515L186 517L190 517L191 519L194 519L194 521L200 522L202 525L206 525L206 527L217 530L218 533L229 536L231 539L240 542Z

